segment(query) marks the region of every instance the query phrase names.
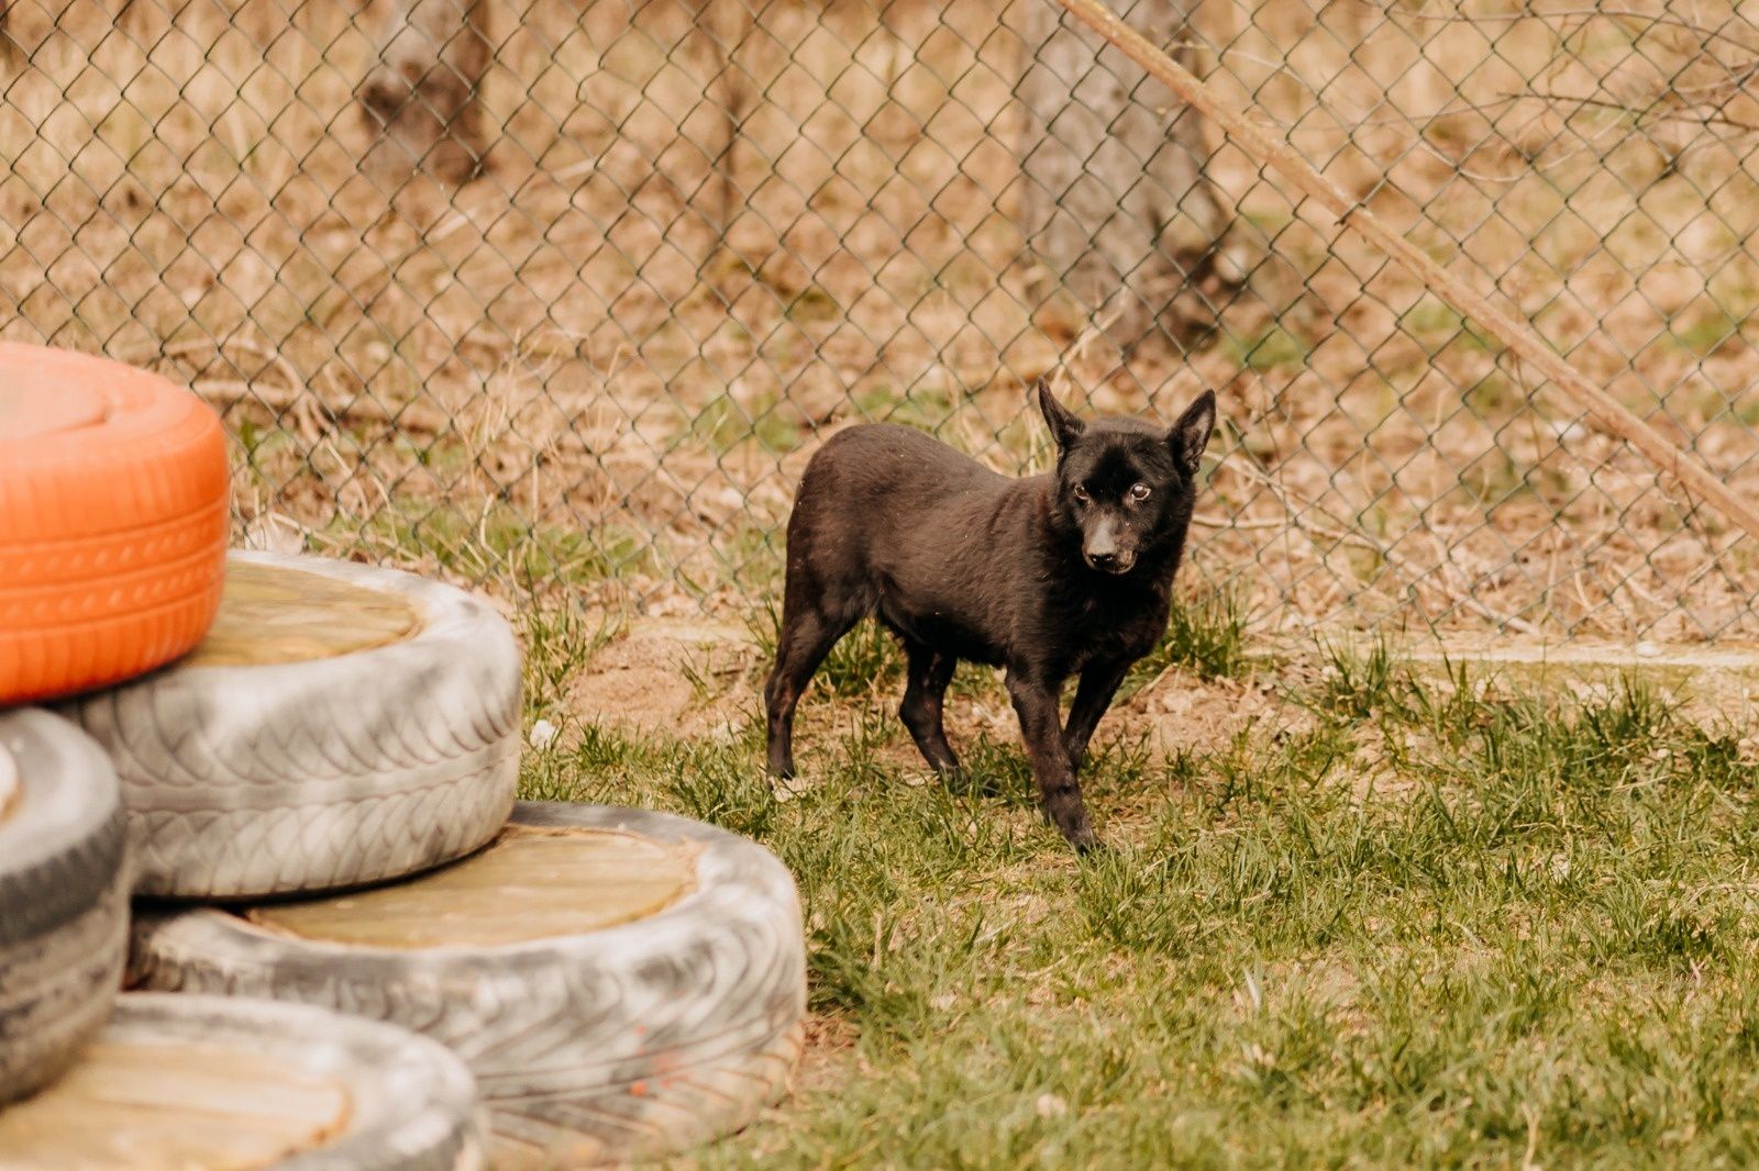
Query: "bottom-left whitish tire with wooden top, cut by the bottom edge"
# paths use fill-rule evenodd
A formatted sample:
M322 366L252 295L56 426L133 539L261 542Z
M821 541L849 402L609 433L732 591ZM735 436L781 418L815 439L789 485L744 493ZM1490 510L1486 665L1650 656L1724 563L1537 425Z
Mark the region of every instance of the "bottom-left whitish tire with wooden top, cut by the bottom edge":
M477 1087L443 1046L304 1004L130 993L0 1115L7 1171L480 1171Z

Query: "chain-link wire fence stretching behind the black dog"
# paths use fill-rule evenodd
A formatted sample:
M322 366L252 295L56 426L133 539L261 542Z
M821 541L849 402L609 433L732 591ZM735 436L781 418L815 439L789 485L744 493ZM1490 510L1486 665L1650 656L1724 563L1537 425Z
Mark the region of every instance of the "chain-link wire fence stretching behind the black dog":
M1128 19L1759 489L1759 19ZM1191 589L1265 629L1755 633L1750 545L1054 0L0 0L0 336L236 436L239 538L656 612L779 591L857 420L1223 399Z

